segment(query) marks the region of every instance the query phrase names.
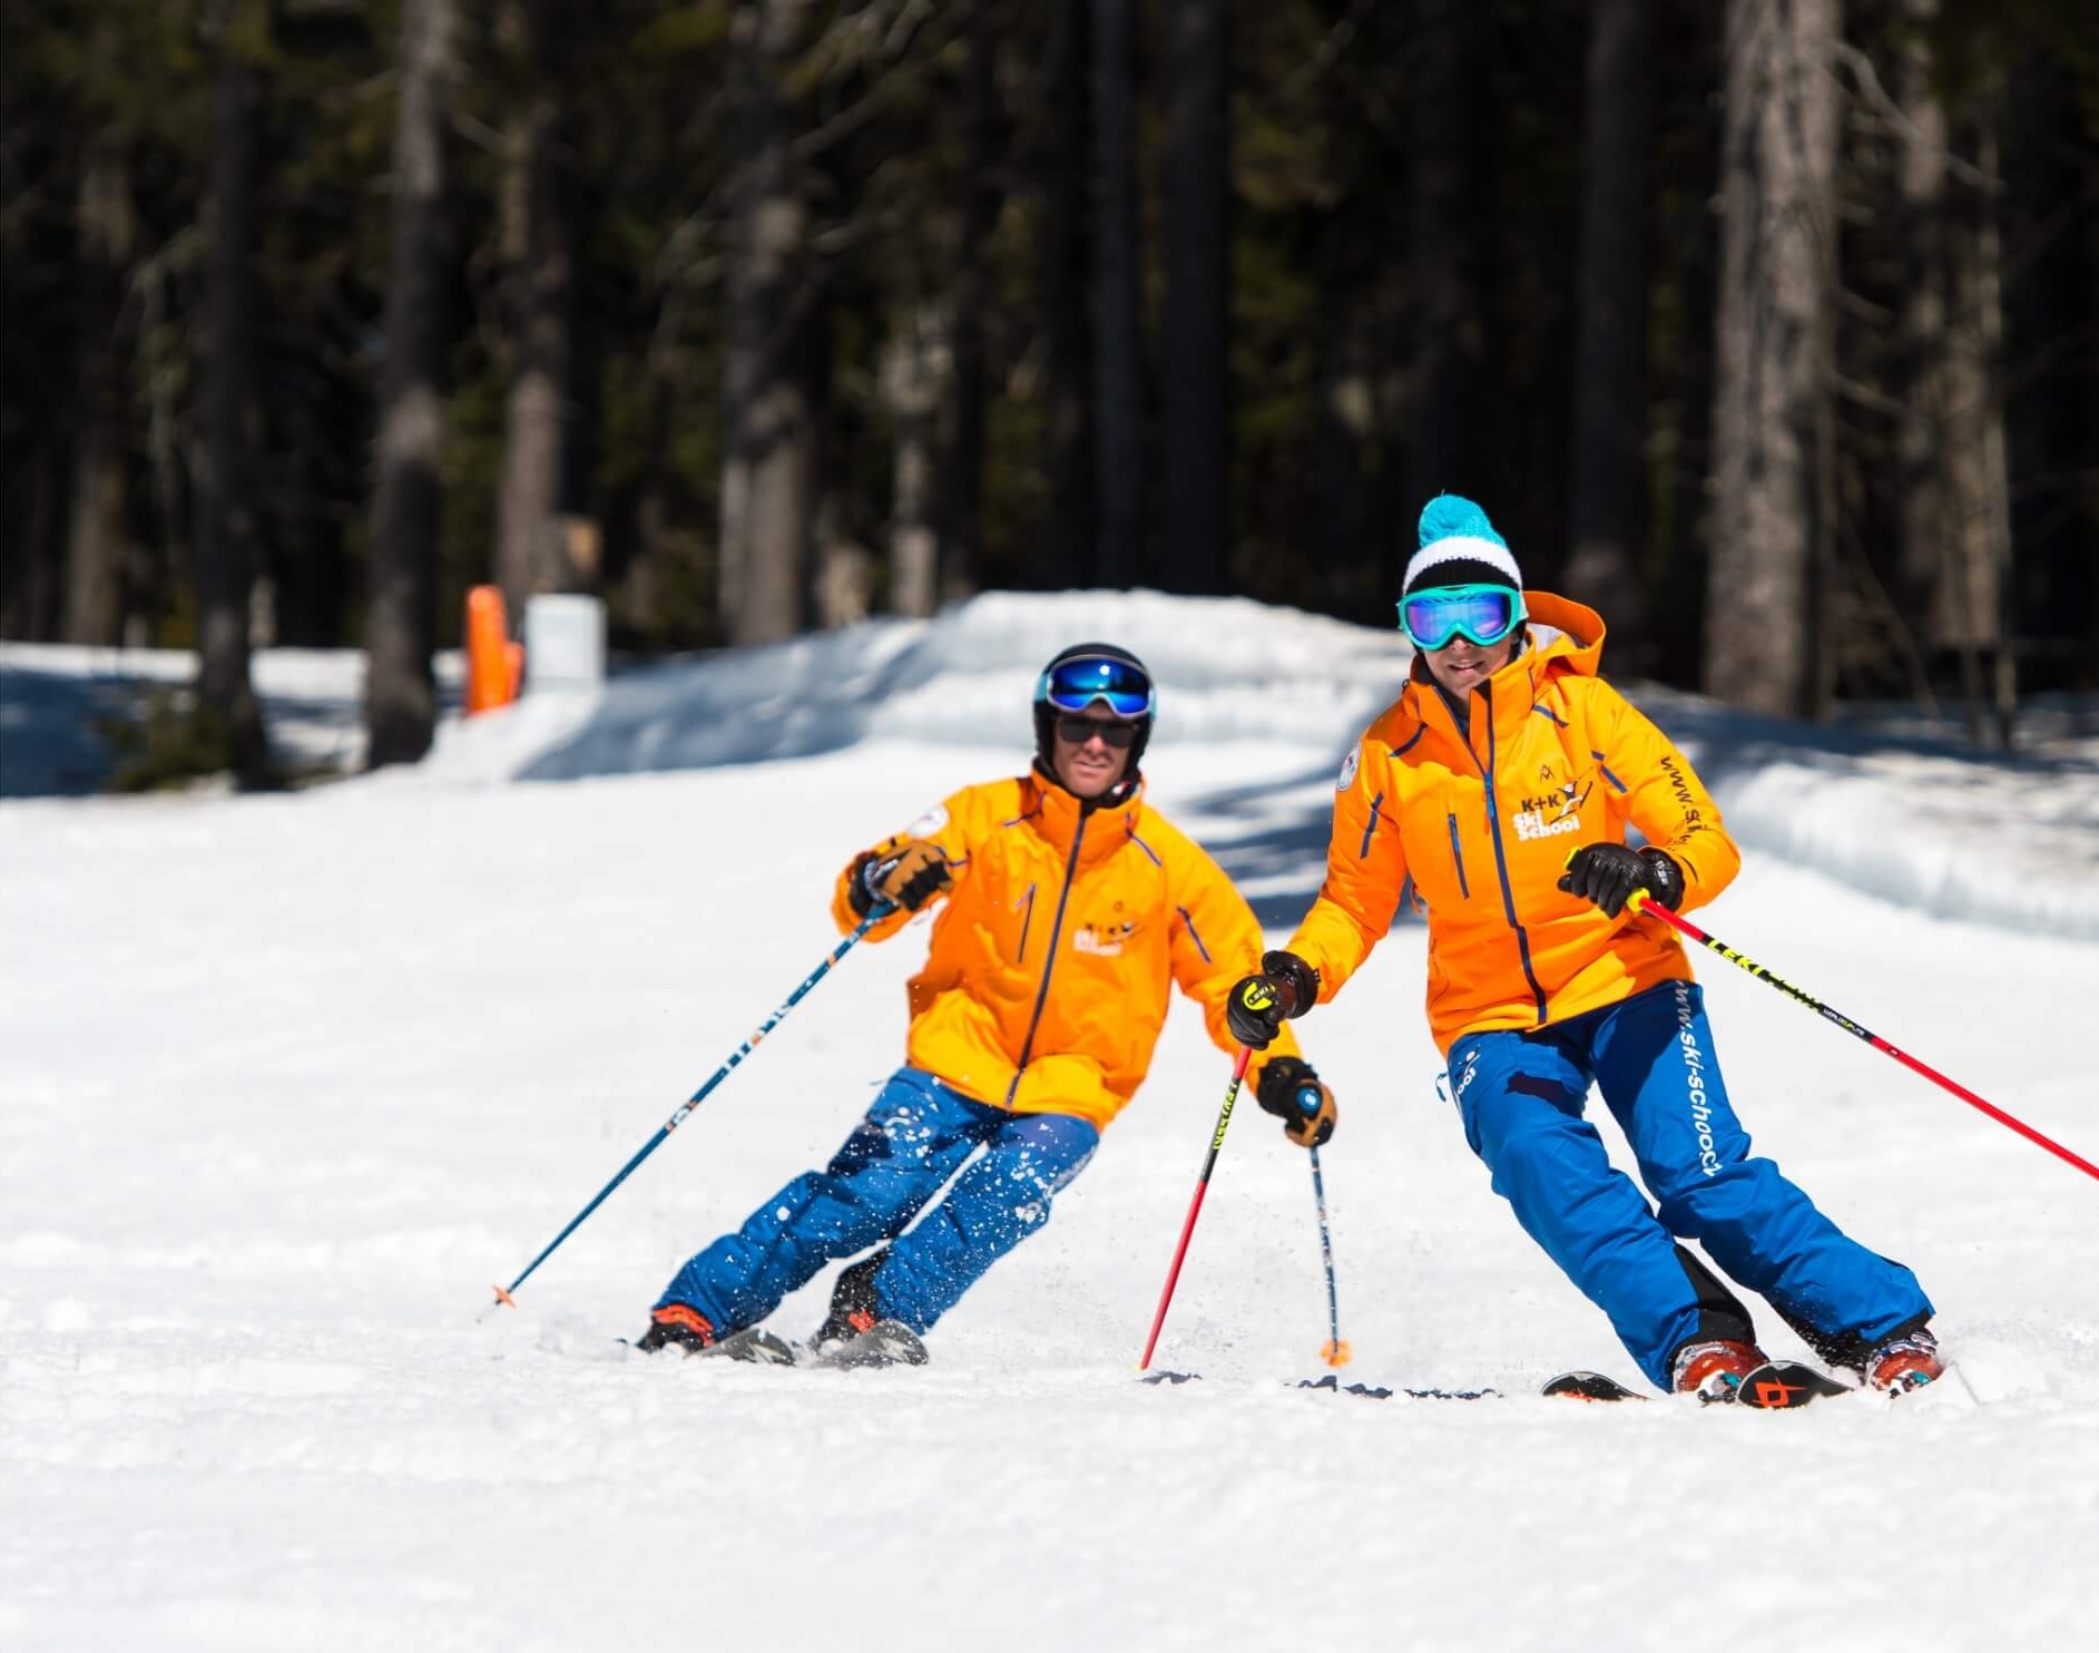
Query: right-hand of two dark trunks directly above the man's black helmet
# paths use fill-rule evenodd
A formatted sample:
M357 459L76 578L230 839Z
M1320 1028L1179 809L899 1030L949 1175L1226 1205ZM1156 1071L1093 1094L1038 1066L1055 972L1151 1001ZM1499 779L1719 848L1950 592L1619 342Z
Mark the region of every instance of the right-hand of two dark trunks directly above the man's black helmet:
M1144 531L1144 336L1138 319L1138 122L1129 0L1094 21L1094 445L1100 538L1094 578L1133 586Z

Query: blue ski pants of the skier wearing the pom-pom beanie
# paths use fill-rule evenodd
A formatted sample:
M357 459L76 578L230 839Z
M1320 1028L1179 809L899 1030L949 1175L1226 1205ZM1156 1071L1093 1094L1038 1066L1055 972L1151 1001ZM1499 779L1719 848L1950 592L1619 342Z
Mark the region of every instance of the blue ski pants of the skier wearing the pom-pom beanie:
M1654 1206L1583 1117L1591 1086ZM1450 1046L1450 1094L1494 1193L1658 1388L1681 1344L1753 1340L1748 1311L1679 1239L1696 1239L1830 1361L1858 1361L1931 1315L1908 1269L1849 1239L1776 1164L1751 1155L1696 983L1530 1031L1467 1033Z

